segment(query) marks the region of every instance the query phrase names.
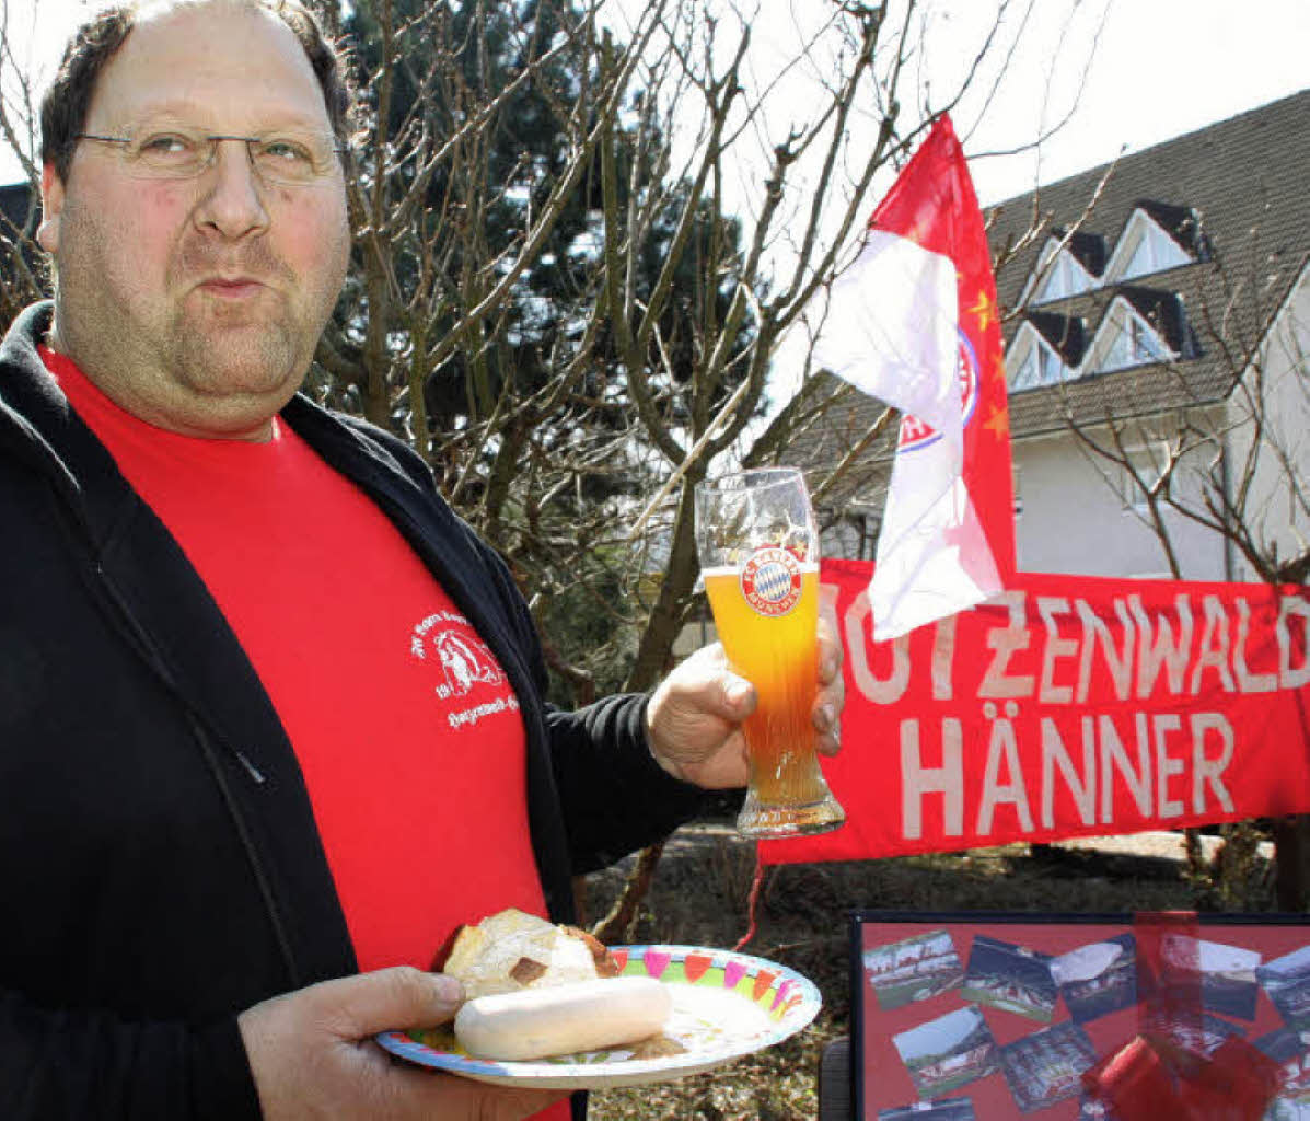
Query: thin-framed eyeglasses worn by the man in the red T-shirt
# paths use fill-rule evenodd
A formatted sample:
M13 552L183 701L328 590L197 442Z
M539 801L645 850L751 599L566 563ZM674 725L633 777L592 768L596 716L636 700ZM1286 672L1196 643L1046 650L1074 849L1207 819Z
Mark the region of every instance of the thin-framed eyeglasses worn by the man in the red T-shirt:
M127 173L147 180L195 178L214 167L220 142L238 140L246 146L250 165L259 178L283 186L329 182L339 169L337 157L345 151L330 132L228 136L203 128L169 127L128 131L126 136L79 132L75 139L118 144Z

